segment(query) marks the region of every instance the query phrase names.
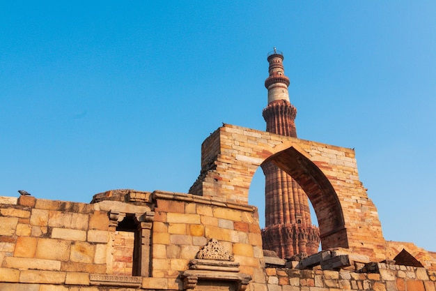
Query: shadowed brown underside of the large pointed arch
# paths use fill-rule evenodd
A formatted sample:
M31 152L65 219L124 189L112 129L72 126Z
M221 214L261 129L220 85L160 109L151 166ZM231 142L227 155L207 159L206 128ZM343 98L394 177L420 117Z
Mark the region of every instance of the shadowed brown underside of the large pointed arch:
M281 144L279 148L286 147ZM348 248L343 210L329 179L310 160L310 155L296 144L272 154L264 163L272 161L289 174L309 197L318 218L322 249Z

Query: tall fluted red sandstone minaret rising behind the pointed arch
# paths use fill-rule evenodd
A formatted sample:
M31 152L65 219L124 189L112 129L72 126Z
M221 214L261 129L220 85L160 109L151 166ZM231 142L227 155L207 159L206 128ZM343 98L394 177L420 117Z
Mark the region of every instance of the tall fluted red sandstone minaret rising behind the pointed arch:
M265 80L268 105L263 110L267 131L297 137L297 110L289 101L289 78L284 73L283 53L274 47L267 60L270 63L270 76ZM320 232L311 223L306 193L274 163L261 166L265 174L263 248L275 251L280 258L290 258L299 253L317 253Z

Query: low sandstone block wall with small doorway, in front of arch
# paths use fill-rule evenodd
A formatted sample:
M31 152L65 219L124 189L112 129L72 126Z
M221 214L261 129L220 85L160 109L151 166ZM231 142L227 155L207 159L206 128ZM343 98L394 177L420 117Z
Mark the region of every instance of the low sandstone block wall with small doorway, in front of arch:
M0 197L0 291L436 291L435 271L425 268L380 262L338 271L265 267L271 261L263 255L255 207L162 191L101 197L114 200ZM117 262L129 261L138 236L132 243L132 234L117 227L130 214L141 221L144 213L153 213L150 253L141 254L149 255L141 262L150 274L132 276ZM222 249L200 258L210 241Z

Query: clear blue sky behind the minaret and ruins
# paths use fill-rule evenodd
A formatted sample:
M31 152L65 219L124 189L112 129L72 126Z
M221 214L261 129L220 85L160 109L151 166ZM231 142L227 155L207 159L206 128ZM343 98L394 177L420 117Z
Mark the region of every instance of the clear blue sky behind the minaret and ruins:
M273 46L298 136L355 148L384 237L436 251L433 0L0 1L0 195L187 193L221 122L265 130Z

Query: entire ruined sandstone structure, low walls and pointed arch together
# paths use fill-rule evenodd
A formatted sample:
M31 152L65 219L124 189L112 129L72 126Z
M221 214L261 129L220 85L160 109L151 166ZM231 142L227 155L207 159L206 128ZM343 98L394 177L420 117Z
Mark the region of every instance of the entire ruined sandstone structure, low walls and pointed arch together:
M305 191L322 251L263 251L248 192L272 162ZM355 151L224 124L189 193L114 190L90 204L0 197L0 291L435 291L436 253L385 241Z

